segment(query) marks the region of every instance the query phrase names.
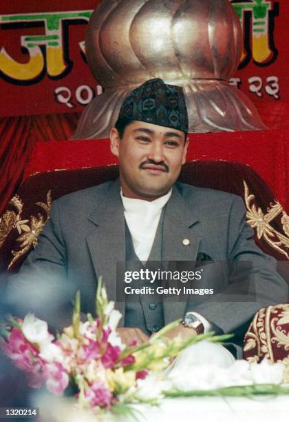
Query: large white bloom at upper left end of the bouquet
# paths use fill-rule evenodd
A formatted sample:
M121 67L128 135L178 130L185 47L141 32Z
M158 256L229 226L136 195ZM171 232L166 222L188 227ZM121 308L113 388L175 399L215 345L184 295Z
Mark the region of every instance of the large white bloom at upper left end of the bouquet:
M41 345L41 343L51 343L54 339L52 334L48 332L47 322L36 318L34 314L25 316L21 329L26 339L31 343Z

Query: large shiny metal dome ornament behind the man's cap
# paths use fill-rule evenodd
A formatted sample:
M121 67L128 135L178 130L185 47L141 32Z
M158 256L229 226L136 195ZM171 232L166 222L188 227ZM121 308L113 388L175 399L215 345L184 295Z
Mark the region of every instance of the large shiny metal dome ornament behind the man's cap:
M182 86L190 133L266 128L250 99L228 83L242 52L228 0L102 0L86 52L105 92L83 111L74 139L108 137L127 94L153 78Z

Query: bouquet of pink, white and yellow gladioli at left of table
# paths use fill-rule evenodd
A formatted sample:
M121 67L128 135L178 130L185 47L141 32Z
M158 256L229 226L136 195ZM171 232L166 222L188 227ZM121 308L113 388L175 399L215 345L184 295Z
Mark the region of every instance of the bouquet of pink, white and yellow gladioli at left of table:
M78 292L72 325L64 328L56 339L48 331L47 323L33 314L26 315L23 321L10 317L1 348L28 375L32 388L45 384L48 391L62 395L72 387L78 404L95 412L115 407L127 392L131 393L131 388L136 388L138 380L144 379L149 371L166 368L186 346L204 337L220 340L208 334L186 341L169 341L164 334L180 323L175 321L148 343L133 342L127 346L116 331L121 314L114 309L114 302L107 299L101 279L96 293L98 317L87 314L87 321L82 322L80 303Z

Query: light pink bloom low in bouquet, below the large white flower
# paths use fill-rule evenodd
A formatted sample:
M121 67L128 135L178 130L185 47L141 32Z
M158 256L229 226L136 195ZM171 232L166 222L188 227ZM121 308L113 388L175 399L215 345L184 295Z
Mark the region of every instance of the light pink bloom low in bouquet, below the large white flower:
M47 390L56 394L56 396L61 396L69 384L69 376L63 365L58 362L47 363L45 365L44 377Z

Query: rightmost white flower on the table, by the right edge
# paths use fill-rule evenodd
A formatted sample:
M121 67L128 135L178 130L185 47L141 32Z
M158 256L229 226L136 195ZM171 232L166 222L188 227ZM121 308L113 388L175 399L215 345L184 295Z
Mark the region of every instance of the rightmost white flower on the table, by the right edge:
M250 372L256 384L280 384L283 379L282 363L270 363L267 359L251 363Z

